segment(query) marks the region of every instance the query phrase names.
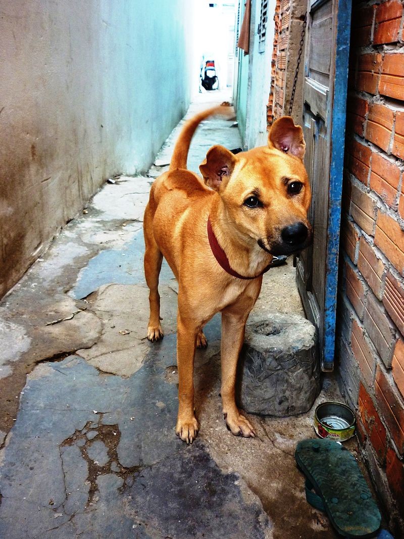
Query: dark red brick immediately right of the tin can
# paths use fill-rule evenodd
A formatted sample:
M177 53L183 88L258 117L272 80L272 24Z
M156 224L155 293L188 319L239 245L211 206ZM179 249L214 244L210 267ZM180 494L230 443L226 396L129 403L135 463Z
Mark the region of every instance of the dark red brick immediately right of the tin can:
M386 429L381 423L379 414L373 401L362 384L359 385L359 415L362 419L365 432L377 454L381 464L386 458Z

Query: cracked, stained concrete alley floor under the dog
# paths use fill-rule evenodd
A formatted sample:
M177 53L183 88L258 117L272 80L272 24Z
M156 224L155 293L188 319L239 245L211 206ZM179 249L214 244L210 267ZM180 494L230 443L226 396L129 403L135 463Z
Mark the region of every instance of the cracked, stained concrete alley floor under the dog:
M189 168L213 143L241 146L232 123L204 122ZM0 537L336 537L294 461L313 410L251 416L255 439L226 430L218 316L196 358L198 438L175 436L177 286L164 264L165 337L151 344L142 216L177 134L148 176L106 183L0 304ZM291 264L266 274L252 316L269 310L303 313ZM335 398L326 379L317 402Z

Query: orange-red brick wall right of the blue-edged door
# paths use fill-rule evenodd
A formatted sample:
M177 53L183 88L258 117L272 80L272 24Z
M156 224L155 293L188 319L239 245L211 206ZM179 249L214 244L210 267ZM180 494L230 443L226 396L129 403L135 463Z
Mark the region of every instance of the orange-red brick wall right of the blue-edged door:
M353 4L337 374L392 531L404 536L403 3Z

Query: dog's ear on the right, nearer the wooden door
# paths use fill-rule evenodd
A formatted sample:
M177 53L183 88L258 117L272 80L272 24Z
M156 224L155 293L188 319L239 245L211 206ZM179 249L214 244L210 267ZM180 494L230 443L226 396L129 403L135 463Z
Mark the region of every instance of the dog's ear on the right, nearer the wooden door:
M290 116L282 116L275 120L269 131L268 146L281 150L285 154L295 155L303 161L306 150L303 129L295 126Z

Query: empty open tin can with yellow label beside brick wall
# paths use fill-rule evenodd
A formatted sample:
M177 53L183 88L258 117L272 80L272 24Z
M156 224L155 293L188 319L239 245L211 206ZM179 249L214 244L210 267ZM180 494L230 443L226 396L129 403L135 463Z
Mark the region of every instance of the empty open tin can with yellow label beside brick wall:
M314 414L314 429L320 438L345 441L355 433L356 417L349 406L343 403L319 404Z

